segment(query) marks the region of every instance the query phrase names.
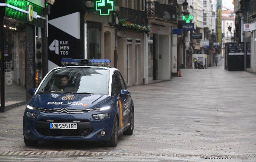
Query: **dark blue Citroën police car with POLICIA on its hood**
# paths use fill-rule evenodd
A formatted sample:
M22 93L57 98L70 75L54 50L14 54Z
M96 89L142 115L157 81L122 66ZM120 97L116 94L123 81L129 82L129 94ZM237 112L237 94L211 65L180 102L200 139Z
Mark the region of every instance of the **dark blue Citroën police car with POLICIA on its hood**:
M23 116L24 143L73 140L117 145L132 135L134 103L120 71L110 60L62 59L37 89ZM106 67L105 65L108 65Z

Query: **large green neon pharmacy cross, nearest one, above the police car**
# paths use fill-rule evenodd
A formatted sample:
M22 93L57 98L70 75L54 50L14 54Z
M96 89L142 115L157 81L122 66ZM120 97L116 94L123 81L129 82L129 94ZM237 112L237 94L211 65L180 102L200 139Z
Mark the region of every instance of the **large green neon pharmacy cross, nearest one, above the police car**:
M95 10L100 15L109 15L110 11L114 11L114 0L99 0L95 2Z

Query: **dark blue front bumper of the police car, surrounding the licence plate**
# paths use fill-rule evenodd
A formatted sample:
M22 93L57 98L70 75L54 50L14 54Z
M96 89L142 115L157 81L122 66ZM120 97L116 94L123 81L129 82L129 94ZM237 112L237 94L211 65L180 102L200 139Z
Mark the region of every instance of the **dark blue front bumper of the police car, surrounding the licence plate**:
M27 111L37 113L37 117L28 118ZM91 111L83 114L54 114L26 109L23 116L23 134L26 139L36 141L109 141L114 127L115 111L108 111L109 119L95 120L92 117L93 114L101 113ZM50 122L77 123L77 129L50 129ZM105 132L104 135L101 134L102 131Z

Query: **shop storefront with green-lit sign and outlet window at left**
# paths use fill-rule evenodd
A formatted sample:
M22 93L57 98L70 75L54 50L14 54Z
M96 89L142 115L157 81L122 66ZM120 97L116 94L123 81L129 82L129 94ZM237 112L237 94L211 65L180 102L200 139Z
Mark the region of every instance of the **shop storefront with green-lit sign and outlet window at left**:
M0 1L0 111L26 103L43 77L44 3ZM42 7L41 7L42 6Z

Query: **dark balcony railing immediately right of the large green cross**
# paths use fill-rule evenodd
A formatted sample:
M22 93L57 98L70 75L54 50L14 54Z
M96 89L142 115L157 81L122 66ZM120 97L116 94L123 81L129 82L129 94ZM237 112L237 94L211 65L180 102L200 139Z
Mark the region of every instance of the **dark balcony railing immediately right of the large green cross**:
M129 23L138 25L148 25L148 17L146 11L128 9L125 7L119 8L119 20L124 19Z

